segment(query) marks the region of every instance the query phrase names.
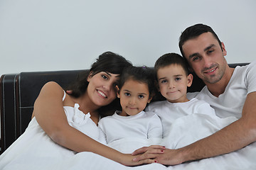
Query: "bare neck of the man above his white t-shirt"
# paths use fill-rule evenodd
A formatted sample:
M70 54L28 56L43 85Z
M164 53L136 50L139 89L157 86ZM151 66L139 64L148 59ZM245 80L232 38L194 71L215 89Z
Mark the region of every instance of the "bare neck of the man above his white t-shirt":
M228 82L230 81L234 70L234 68L228 67L225 70L225 74L223 75L222 79L220 79L220 81L218 81L215 84L209 84L205 82L208 90L210 91L211 94L213 94L213 96L218 97L220 96L220 94L224 93L225 88L228 86Z

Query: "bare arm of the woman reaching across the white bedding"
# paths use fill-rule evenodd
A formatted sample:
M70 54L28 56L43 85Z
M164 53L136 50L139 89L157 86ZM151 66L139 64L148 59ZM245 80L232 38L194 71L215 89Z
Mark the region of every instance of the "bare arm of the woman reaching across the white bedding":
M38 124L54 142L75 152L94 152L124 165L154 162L151 159L133 162L131 154L122 154L71 127L63 110L62 98L63 89L55 82L49 82L41 89L34 105L33 114Z

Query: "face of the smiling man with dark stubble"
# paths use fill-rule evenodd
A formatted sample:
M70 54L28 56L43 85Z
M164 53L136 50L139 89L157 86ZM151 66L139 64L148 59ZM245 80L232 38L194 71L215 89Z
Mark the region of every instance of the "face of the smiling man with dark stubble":
M186 60L206 84L215 84L222 79L228 66L224 57L227 52L224 44L220 47L212 33L203 33L187 40L182 48Z

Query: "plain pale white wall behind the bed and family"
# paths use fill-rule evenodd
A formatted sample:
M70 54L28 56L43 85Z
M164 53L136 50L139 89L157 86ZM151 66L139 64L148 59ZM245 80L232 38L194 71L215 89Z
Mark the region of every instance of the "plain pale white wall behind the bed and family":
M1 0L0 74L88 69L107 50L153 66L205 23L229 63L255 60L255 0Z

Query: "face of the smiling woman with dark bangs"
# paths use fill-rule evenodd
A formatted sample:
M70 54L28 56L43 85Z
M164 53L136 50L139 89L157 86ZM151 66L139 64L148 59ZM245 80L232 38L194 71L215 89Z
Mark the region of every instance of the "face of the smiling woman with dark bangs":
M89 75L87 81L87 95L96 106L106 106L117 97L115 86L119 80L119 74L99 72Z

